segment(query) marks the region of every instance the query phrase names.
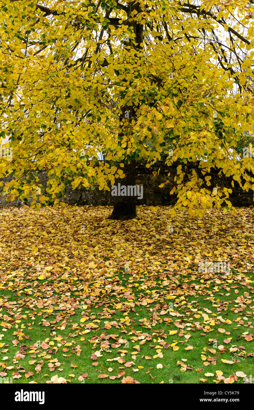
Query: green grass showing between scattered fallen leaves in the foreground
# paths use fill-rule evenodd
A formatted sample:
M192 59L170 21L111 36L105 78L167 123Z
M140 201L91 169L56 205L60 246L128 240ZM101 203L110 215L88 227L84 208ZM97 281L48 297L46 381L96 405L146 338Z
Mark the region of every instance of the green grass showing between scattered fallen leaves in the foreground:
M118 272L118 277L120 280L124 280L127 279L128 275L121 275L121 272ZM157 287L153 289L156 289L158 291L158 289L160 289L160 281L157 280L156 282ZM196 284L200 283L198 281L195 282ZM139 280L135 283L140 285L142 281ZM242 286L241 292L239 292L238 296L246 291L247 289L245 289L245 287ZM232 301L232 299L236 296L234 294L234 289L231 289L230 292L227 292L227 290L225 290L224 292L230 293L228 296L218 296L218 299L223 300L224 303L226 301ZM8 293L5 292L4 296L7 296L7 294L10 296L9 302L15 300L15 297L13 297L11 291L8 291ZM135 288L134 294L136 296L138 294L137 287ZM215 377L207 378L206 383L209 383L216 378L216 370L223 371L223 376L225 377L228 377L230 374L235 374L236 371L243 371L247 375L247 377L249 377L249 375L252 374L254 371L253 357L247 357L247 355L245 355L245 357L239 358L238 356L234 355L229 351L230 347L239 346L238 337L241 336L243 332L248 330L248 328L244 327L243 325L239 326L237 324L236 319L237 317L239 317L239 315L237 313L234 313L229 308L227 308L227 311L222 310L221 313L218 314L216 308L212 306L210 300L201 300L198 302L198 304L193 303L193 301L196 301L197 299L197 297L193 296L190 296L189 298L185 299L187 303L185 303L183 309L178 309L178 312L180 314L183 314L183 312L186 310L185 306L188 303L191 303L190 306L194 309L197 308L198 312L201 312L201 314L204 312L204 308L211 310L212 313L209 314L209 317L212 317L212 314L216 315L216 317L221 315L223 319L229 319L230 321L232 321L232 324L230 325L221 323L220 326L222 328L225 328L226 331L229 331L230 335L225 335L225 333L219 333L218 330L216 330L218 326L215 326L214 330L211 330L208 333L205 333L204 335L200 335L200 333L203 332L197 331L195 325L187 325L187 327L184 328L184 330L185 332L188 331L187 333L191 334L191 337L188 340L185 340L184 336L179 337L178 335L169 335L169 330L175 330L176 328L173 322L167 325L163 321L163 318L165 316L161 316L161 319L157 321L155 326L151 326L150 328L147 328L147 326L142 326L138 322L138 319L142 319L144 317L146 317L146 319L151 318L151 310L153 310L156 303L151 303L149 307L143 306L137 308L137 306L135 306L136 312L132 312L131 310L128 311L128 317L132 317L132 320L135 321L134 323L131 322L130 326L132 326L136 332L148 333L152 336L152 338L150 341L148 340L144 344L140 345L141 351L137 352L136 358L133 359L132 353L135 351L134 346L136 346L138 342L133 341L131 339L131 337L135 336L135 334L132 333L132 330L130 330L130 326L124 326L124 323L122 322L122 325L120 325L119 328L112 327L110 330L102 329L102 326L104 326L104 321L117 321L117 323L119 323L120 319L126 316L124 315L124 313L126 312L116 311L115 314L112 314L110 319L105 319L102 317L103 315L99 314L99 311L101 310L99 306L97 306L97 308L92 307L90 309L89 316L94 317L94 319L88 320L85 323L92 323L93 321L93 323L99 325L99 328L97 330L91 329L89 333L82 334L82 328L79 331L72 330L72 325L73 323L80 324L82 313L87 312L87 310L81 310L79 307L76 308L75 314L67 318L67 324L65 329L63 330L61 329L61 326L57 326L57 323L56 325L52 324L51 326L42 326L43 315L38 316L40 310L37 309L37 313L35 313L31 309L23 307L22 309L17 309L16 312L22 316L26 315L26 318L22 317L20 319L20 323L17 323L16 321L16 331L18 332L18 330L21 330L22 333L24 333L24 336L22 337L22 339L20 337L20 344L18 344L18 346L14 346L12 344L12 340L14 339L13 328L7 330L4 329L1 332L2 340L4 340L5 345L4 347L2 347L2 349L7 348L8 351L6 353L1 353L0 362L5 363L7 366L13 365L14 369L16 367L22 366L25 371L32 371L34 373L34 376L26 378L25 373L21 372L20 374L22 375L22 377L20 377L19 379L13 379L13 383L27 383L31 380L35 380L37 383L45 383L46 380L50 380L51 377L56 374L58 375L58 377L62 376L65 379L67 379L69 383L81 383L79 382L78 377L80 376L80 374L86 373L88 374L88 376L84 378L83 383L108 383L109 381L110 383L121 383L121 378L116 378L115 380L109 380L109 378L98 378L99 374L101 373L108 374L109 376L117 376L118 372L121 370L125 371L125 377L131 376L135 380L139 380L140 383L202 383L199 381L199 379L206 378L206 372L213 373L215 375ZM217 297L215 298L215 300L216 299ZM121 298L112 297L110 298L110 304L113 305L113 303L118 303L119 300L121 300ZM234 304L229 303L230 307L232 305ZM4 314L8 315L8 312L3 309L2 315ZM245 321L251 321L251 313L246 313L246 316L247 317ZM34 319L31 319L31 317L34 317ZM48 322L54 321L55 317L56 315L49 315L46 318L46 320ZM100 322L94 322L94 320L99 320ZM190 316L188 319L188 316L186 316L186 319L183 321L183 323L192 324L194 321L203 322L202 316L201 319L195 319L192 316ZM21 324L23 326L21 326ZM211 329L212 328L213 327L211 326ZM161 329L164 329L164 331L160 333ZM126 330L127 333L123 333L123 330ZM99 364L97 367L94 367L92 365L93 361L90 359L90 357L92 353L100 349L100 343L97 343L97 347L95 349L92 349L92 346L94 344L91 344L90 340L95 335L100 337L102 332L105 332L106 336L117 335L114 336L115 339L119 339L120 337L127 339L129 341L129 347L124 348L124 344L122 344L121 349L110 347L109 349L102 351L102 357L99 357L98 359ZM73 334L76 334L76 336L70 336ZM26 339L26 335L29 335L29 338ZM72 343L72 345L66 347L57 342L56 340L54 340L54 337L58 335L61 335L62 339L66 340L66 342ZM223 342L223 340L227 337L232 337L232 340L229 344L225 344ZM18 339L18 335L16 336L16 338ZM45 350L41 348L38 348L36 353L28 353L30 351L30 345L36 343L38 340L40 340L40 342L42 343L46 339L49 339L48 342L54 342L54 346L52 345L51 347L53 350L54 348L57 348L56 353L47 353ZM163 358L153 358L154 355L157 355L156 348L151 348L149 345L151 344L157 346L159 345L159 341L161 339L164 340L165 343L169 344L178 341L177 346L179 346L179 350L173 351L173 347L171 346L169 346L169 348L167 349L161 346ZM206 353L206 348L214 348L214 342L209 341L209 339L217 339L217 346L224 345L227 348L227 351L225 353L221 353L218 350L218 348L215 348L216 354L209 355L216 358L216 364L211 364L210 362L208 366L204 366L204 361L201 359L201 355L203 354L206 357L209 357L209 355ZM110 343L115 342L114 339L109 339L109 341ZM180 341L183 341L183 343L180 343ZM184 350L184 347L187 347L188 344L193 346L193 350ZM15 356L15 353L19 350L18 347L20 347L20 345L27 345L27 349L25 349L26 355L24 359L18 360L18 363L15 364L12 362L12 360ZM72 347L77 345L79 345L81 348L80 356L75 355L72 351ZM240 345L245 346L247 352L251 350L250 347L253 349L253 342L246 342L243 338L241 338ZM63 347L66 347L68 351L63 353ZM126 351L126 353L121 354L117 352L118 350ZM237 353L239 352L237 351L236 354ZM107 360L117 358L121 355L123 356L125 362L133 361L135 362L135 365L131 367L125 367L124 364L121 364L115 360ZM8 356L8 359L3 360L5 356ZM151 360L147 360L145 356L150 356ZM226 360L236 359L239 362L235 362L234 364L227 364L221 362L221 358ZM50 363L50 360L54 359L57 359L58 362L61 363L61 365L56 367L55 370L51 372L49 371L48 363ZM183 359L187 360L184 361L184 364L193 367L193 370L187 369L184 372L180 370L181 366L177 364L177 362L182 362ZM29 364L29 361L31 360L35 360L34 364ZM35 366L36 364L41 363L42 360L43 367L40 373L36 374ZM162 369L157 369L156 365L159 363L163 365ZM73 368L71 367L71 364L76 364L77 367ZM134 372L133 368L137 369L138 366L142 366L143 368ZM111 372L108 371L109 367L113 369ZM3 364L2 368L4 368ZM202 370L200 372L196 371L196 369L201 368ZM9 377L11 377L11 372L14 371L14 369L8 371ZM60 371L59 369L63 370ZM70 374L74 374L74 377L69 376ZM243 379L238 378L238 383L243 383Z

